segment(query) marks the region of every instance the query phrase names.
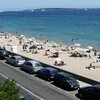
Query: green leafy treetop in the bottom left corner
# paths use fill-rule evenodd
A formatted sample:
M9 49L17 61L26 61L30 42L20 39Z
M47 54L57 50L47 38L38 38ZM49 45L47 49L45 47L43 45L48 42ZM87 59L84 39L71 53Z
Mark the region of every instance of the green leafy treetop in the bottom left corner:
M0 85L0 100L20 100L20 91L14 80L7 79Z

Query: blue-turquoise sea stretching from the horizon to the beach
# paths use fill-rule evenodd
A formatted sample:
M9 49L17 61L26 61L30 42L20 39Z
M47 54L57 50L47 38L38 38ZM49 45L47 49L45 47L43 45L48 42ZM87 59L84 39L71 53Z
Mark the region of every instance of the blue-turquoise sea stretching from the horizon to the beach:
M0 12L0 32L100 49L100 9L42 8Z

